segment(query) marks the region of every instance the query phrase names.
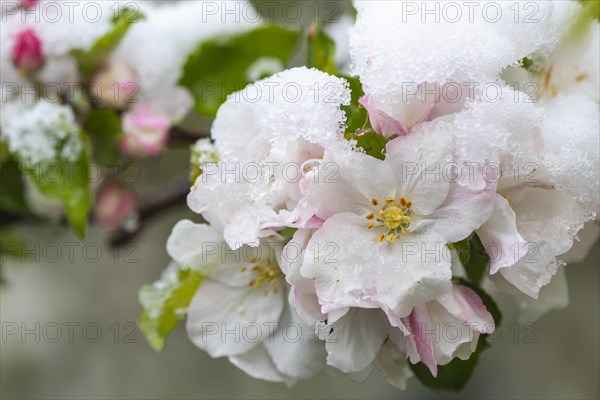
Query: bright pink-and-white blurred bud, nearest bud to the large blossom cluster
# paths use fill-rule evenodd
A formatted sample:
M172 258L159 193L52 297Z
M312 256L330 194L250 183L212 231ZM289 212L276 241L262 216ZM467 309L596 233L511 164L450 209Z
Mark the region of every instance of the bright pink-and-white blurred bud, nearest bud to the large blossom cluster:
M146 105L128 111L123 116L121 151L134 157L160 153L169 137L170 123L168 115Z

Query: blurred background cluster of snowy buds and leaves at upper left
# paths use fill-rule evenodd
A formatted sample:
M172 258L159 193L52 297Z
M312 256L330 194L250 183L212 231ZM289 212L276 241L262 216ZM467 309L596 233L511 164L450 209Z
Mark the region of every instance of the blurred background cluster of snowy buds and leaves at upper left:
M95 198L94 220L108 230L122 228L136 212L136 196L127 182L90 185L87 178L98 175L86 170L90 159L112 168L118 161L162 153L171 128L194 105L193 94L179 83L190 54L204 41L262 25L253 8L247 19L225 23L199 1L6 0L1 5L1 142L23 173L27 209L51 219L67 214L72 222L69 207L78 208L84 225L89 198ZM238 1L241 6L250 4ZM89 143L92 155L86 153ZM101 151L109 157L93 159ZM52 191L44 176L35 176L43 165L64 163L83 170L77 171L86 178L76 182L77 190L95 195L81 195L75 204L68 189Z

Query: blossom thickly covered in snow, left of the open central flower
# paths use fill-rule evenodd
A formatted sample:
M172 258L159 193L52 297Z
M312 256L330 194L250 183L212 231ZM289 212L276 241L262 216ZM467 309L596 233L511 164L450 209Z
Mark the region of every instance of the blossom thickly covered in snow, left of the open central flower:
M307 68L230 95L212 127L219 163L196 180L190 208L224 227L232 248L257 245L269 228L297 222L290 210L300 178L325 147L343 145L340 106L349 99L344 80Z

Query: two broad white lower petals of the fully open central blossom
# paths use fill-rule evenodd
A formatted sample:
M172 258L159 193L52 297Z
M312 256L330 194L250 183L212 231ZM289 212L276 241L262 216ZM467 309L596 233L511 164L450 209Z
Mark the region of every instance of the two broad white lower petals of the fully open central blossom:
M450 290L445 242L433 232L379 243L367 221L336 214L316 231L301 273L314 279L322 312L344 307L389 307L399 317Z

